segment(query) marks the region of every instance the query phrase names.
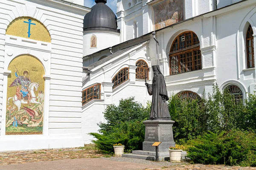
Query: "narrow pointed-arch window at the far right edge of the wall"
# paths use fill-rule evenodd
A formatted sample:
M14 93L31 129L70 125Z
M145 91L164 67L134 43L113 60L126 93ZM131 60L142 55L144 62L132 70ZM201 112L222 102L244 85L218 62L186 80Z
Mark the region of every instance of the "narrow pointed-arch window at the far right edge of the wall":
M249 26L246 33L246 53L247 68L254 68L254 49L253 49L253 28Z

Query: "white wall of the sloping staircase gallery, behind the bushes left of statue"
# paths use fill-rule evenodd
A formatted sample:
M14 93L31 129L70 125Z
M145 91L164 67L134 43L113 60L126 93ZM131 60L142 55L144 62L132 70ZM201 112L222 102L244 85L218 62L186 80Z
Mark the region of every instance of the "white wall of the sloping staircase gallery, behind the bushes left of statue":
M85 143L91 143L91 140L93 139L93 137L88 135L88 133L97 132L99 130L99 127L96 124L99 122L105 122L102 112L105 111L105 108L108 105L118 105L120 99L126 99L131 96L134 96L135 100L142 103L144 106L146 106L148 100L151 100L151 96L146 92L145 80L135 78L135 65L137 60L143 59L147 62L148 66L151 67L150 62L147 59L148 53L146 48L147 42L91 70L92 73L88 78L89 80L83 84L83 90L100 83L101 99L95 99L83 105L82 133ZM119 72L119 70L125 67L129 68L129 80L112 89L113 77ZM149 75L151 80L151 71ZM148 80L148 83L150 83L150 80Z

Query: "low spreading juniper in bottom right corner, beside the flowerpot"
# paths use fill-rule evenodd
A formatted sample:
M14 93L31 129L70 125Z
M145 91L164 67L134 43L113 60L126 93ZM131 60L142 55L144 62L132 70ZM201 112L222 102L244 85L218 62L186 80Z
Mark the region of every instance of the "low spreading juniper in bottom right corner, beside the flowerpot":
M192 139L188 157L193 163L227 164L240 166L256 165L256 133L231 130L228 133L212 132Z

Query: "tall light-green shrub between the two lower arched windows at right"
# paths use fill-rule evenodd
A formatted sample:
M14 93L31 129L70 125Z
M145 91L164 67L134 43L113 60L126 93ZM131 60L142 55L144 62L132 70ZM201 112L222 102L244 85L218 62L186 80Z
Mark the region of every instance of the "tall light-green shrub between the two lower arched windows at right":
M212 86L212 94L205 101L208 117L208 130L213 133L228 131L240 127L239 120L244 112L243 102L236 102L228 90L220 91L217 84Z

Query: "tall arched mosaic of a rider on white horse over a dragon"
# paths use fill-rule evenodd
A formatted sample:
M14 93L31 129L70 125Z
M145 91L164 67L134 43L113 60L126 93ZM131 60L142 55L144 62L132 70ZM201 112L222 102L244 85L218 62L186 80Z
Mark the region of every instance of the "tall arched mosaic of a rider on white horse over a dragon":
M43 134L44 67L30 55L16 57L8 70L6 135Z

